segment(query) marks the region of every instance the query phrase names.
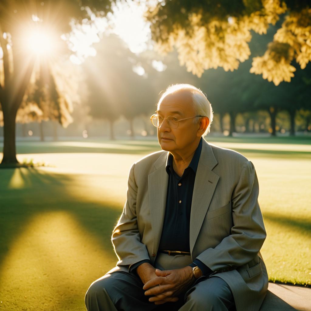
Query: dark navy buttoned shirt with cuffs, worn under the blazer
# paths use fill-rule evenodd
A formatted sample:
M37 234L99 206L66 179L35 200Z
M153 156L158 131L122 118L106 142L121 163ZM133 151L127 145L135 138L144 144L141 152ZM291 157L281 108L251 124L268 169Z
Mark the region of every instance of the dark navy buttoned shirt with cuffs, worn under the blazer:
M189 229L191 202L197 165L202 150L202 139L203 138L201 137L193 158L181 177L174 171L173 155L169 153L169 156L167 157L165 169L169 178L159 250L190 252ZM133 271L143 262L151 261L142 260L137 262L130 267L130 271ZM198 266L202 270L203 275L213 272L198 259L195 259L189 266Z

